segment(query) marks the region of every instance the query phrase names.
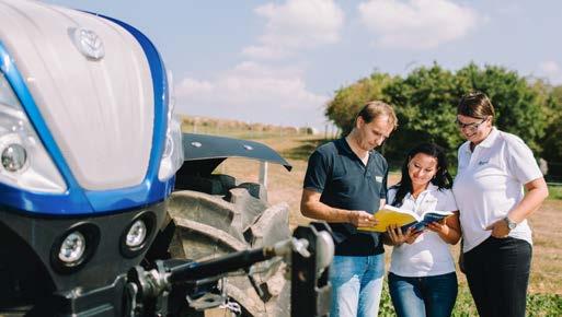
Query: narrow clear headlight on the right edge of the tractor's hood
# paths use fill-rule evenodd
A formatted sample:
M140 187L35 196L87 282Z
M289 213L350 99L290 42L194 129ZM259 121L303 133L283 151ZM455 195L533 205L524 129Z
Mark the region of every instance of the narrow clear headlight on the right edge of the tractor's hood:
M175 96L173 92L172 73L168 78L168 129L165 131L165 145L160 161L158 178L167 180L172 177L183 164L182 126L181 119L174 115Z

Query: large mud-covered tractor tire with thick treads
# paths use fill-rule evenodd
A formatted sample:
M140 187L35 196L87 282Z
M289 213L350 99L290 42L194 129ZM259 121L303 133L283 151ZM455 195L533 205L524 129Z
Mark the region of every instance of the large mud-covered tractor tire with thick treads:
M266 192L259 184L238 186L233 178L214 175L197 179L202 190L172 193L169 214L175 224L170 254L173 258L202 261L249 248L273 245L290 237L288 204L269 206ZM193 185L193 184L192 184ZM197 189L197 186L191 186ZM225 189L221 192L217 188ZM248 316L274 316L279 307L288 307L288 297L279 296L285 285L285 266L267 261L259 266L256 281L265 283L273 295L265 303L244 275L228 278L227 294L240 303ZM287 303L278 303L279 298Z

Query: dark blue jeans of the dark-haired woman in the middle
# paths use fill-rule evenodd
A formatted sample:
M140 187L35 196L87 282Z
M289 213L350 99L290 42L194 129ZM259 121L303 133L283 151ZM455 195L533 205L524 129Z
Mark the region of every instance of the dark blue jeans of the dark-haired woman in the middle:
M399 317L448 317L457 300L455 272L424 278L389 273L388 284Z

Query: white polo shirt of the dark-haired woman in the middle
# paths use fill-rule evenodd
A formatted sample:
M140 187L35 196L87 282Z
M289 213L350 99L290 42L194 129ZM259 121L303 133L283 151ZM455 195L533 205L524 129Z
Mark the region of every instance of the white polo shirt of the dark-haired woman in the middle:
M395 195L397 188L389 189L389 203L394 201ZM400 208L422 215L427 211L456 211L457 203L450 189L439 190L429 184L417 199L408 193ZM449 245L437 233L426 230L413 244L393 247L389 271L400 277L433 277L454 272L455 262Z

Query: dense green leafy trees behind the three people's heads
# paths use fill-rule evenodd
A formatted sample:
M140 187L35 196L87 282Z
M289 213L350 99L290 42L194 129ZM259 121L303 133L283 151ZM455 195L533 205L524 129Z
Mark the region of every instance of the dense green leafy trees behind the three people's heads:
M403 160L415 143L434 141L454 158L463 141L455 125L457 105L472 91L490 96L498 129L519 136L537 157L553 163L551 168L562 167L555 166L562 162L562 86L503 67L470 63L454 72L434 63L414 69L405 78L375 71L337 90L325 115L347 133L366 102L385 101L395 107L400 124L383 146L387 157ZM562 175L562 171L551 172Z

